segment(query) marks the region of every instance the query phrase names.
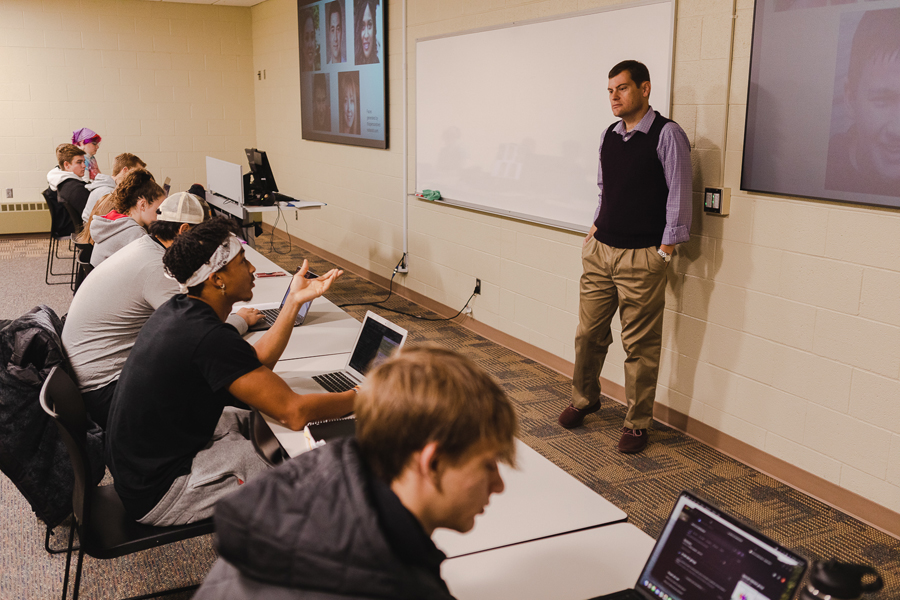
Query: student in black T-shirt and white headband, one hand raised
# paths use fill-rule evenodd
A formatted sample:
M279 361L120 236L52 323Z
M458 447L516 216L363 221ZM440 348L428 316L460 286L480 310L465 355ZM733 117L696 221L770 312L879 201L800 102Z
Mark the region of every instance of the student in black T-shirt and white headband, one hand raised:
M128 514L147 525L209 517L219 498L268 469L245 437L249 411L234 406L295 430L353 410L353 390L301 396L272 372L300 307L342 272L306 279L303 261L275 324L251 346L225 324L235 302L253 298L255 271L231 228L213 218L166 249L163 264L183 293L141 329L116 385L106 464Z

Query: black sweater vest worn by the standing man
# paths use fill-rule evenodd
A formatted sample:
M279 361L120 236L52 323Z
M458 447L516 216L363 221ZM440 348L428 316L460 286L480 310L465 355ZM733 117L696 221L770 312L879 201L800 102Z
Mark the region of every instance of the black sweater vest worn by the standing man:
M627 142L609 126L600 150L603 197L594 237L614 248L659 246L666 228L669 186L656 148L669 119L656 113L650 131Z

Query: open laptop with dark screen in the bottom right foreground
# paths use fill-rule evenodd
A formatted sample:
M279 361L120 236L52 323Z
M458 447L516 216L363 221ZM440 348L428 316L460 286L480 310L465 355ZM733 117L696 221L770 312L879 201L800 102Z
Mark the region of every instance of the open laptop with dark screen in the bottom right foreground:
M637 584L591 600L789 600L805 558L682 492Z

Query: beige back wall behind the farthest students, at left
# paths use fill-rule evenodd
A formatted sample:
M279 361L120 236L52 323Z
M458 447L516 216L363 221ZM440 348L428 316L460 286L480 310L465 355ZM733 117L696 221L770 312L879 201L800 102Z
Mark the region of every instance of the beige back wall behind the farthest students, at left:
M252 52L248 8L3 0L0 191L38 200L81 127L103 137L103 173L127 151L173 189L205 185L207 155L246 162L256 143Z

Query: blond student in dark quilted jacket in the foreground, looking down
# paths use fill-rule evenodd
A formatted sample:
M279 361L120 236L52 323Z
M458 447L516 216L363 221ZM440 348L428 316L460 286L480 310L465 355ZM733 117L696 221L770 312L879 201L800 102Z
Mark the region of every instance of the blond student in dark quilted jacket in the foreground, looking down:
M401 350L363 384L356 439L219 502L220 558L194 599L451 598L431 535L474 527L515 434L509 399L471 360Z

